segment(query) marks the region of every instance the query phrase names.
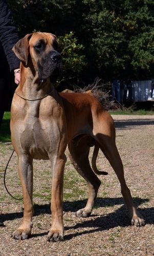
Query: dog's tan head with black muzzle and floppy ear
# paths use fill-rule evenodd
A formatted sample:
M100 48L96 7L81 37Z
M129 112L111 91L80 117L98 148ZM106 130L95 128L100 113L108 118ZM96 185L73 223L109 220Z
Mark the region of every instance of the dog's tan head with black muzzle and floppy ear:
M50 33L36 32L27 34L12 49L25 67L34 67L40 80L51 81L61 74L61 54L56 36Z

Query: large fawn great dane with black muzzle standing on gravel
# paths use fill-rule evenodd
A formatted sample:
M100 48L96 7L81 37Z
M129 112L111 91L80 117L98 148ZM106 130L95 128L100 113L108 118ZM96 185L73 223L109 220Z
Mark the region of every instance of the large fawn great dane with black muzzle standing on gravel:
M52 225L48 241L63 240L62 190L67 145L75 169L89 186L87 203L76 215L91 215L101 183L96 174L106 174L99 172L96 167L100 148L120 181L131 224L144 225L124 179L112 117L94 97L84 93L57 93L53 87L54 80L61 72L61 54L56 36L42 32L27 34L16 43L13 51L21 63L20 83L12 100L10 127L23 188L24 218L12 237L27 239L31 234L33 159L43 159L51 161L53 173ZM92 167L89 162L91 146L94 146Z

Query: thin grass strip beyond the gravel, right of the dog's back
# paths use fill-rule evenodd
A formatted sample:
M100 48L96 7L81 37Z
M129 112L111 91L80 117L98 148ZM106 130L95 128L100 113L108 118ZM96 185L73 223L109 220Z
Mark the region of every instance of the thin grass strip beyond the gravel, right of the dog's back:
M154 111L147 111L147 110L115 110L115 111L108 111L111 115L154 115Z

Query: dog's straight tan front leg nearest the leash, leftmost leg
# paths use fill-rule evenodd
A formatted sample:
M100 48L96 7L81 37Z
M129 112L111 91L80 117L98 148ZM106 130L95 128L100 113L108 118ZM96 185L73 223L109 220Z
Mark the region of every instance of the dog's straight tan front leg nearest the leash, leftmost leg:
M14 239L28 239L32 229L33 217L33 165L28 156L18 157L18 173L23 188L24 218L23 223L13 232Z

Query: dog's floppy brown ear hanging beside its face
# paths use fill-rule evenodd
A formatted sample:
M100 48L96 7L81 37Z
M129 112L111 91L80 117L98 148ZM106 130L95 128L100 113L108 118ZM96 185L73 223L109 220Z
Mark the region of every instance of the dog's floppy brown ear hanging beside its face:
M12 48L13 52L18 57L18 59L20 59L21 61L24 61L26 65L28 62L28 54L29 54L29 40L32 35L33 33L27 34L25 37L17 41Z

